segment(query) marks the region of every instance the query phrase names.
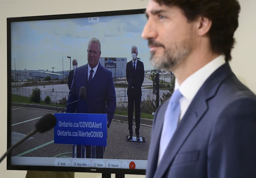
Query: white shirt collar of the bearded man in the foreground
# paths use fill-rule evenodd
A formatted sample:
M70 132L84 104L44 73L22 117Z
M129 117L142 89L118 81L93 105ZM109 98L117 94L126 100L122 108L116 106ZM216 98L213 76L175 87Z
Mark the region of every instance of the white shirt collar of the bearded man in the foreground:
M174 90L179 89L181 94L191 101L206 79L223 64L225 64L225 58L223 55L219 55L217 58L187 77L180 86L178 81L175 80Z

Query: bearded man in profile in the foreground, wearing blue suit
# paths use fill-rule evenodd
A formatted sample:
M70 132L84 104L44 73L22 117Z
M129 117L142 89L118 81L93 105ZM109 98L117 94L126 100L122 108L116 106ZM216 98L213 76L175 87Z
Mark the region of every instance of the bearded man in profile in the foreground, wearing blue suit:
M237 0L149 0L142 37L176 81L154 118L147 178L256 177L256 96L228 64L239 11Z

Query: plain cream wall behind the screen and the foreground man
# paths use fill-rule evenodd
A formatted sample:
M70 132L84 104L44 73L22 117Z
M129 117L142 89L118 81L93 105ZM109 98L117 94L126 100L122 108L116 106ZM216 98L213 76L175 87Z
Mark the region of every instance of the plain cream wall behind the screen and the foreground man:
M232 52L231 67L239 79L256 93L256 1L239 0L241 13L239 28L235 38L237 44ZM71 14L85 12L100 12L110 10L146 8L147 0L0 0L0 108L2 112L0 126L0 155L6 150L6 118L7 118L7 71L6 71L6 18L22 16L39 16L54 14ZM25 177L26 171L7 171L6 158L0 164L1 177ZM96 173L76 173L76 178L97 177ZM114 177L114 175L112 175ZM126 177L145 177L142 175L126 175Z

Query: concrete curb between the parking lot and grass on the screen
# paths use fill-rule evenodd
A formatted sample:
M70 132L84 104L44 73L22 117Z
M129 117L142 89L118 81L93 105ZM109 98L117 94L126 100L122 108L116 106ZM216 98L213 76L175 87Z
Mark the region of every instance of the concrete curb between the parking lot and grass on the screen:
M22 107L22 108L33 108L33 109L46 110L46 111L54 111L54 112L62 112L62 107L56 107L56 106L44 106L44 105L25 104L25 103L12 103L12 106L14 106L14 107ZM64 112L66 112L66 108L64 109ZM114 114L113 120L117 120L117 121L122 121L122 122L128 123L128 116ZM153 124L153 119L141 118L141 125L145 125L145 126L151 127L152 124Z

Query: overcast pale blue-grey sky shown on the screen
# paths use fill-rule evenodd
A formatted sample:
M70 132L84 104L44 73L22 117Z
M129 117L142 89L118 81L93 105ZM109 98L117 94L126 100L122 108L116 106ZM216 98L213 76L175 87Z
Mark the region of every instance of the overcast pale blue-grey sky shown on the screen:
M12 70L70 69L70 60L77 59L78 66L87 63L87 45L92 38L101 43L100 57L122 57L131 60L131 46L138 47L138 58L145 70L149 63L149 48L141 33L146 23L144 14L89 18L13 22L11 25ZM72 68L72 66L71 66Z

